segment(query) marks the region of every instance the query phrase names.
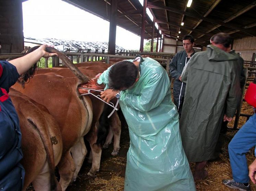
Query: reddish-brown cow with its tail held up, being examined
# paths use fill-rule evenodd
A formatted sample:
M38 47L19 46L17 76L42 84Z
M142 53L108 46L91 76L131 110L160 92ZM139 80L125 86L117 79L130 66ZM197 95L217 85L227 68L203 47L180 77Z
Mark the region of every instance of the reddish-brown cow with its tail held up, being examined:
M64 78L56 75L35 75L25 89L15 84L21 91L36 102L43 104L58 122L63 140L63 152L58 164L62 190L75 180L83 164L87 150L84 144L92 124L92 102L88 96L77 94L78 78ZM72 153L72 156L71 156ZM95 168L92 171L98 170Z

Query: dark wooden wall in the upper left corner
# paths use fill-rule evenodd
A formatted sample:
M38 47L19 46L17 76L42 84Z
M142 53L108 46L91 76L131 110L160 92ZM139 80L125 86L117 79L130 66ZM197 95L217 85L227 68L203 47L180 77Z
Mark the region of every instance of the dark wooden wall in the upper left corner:
M0 0L0 53L21 53L24 49L21 0Z

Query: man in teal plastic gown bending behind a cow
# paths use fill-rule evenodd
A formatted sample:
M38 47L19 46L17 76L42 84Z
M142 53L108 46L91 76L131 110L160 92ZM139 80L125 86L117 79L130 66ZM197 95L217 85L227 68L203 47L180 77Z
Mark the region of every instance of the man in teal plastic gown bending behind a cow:
M151 58L136 57L103 72L98 79L102 83L106 88L101 98L120 98L129 126L124 190L195 191L163 67Z

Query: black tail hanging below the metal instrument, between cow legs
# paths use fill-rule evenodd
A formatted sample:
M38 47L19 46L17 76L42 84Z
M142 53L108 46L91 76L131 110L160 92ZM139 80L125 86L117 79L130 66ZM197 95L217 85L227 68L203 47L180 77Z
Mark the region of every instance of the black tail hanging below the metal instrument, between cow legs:
M106 137L108 134L108 129L109 129L108 115L109 115L109 106L105 104L103 112L99 118L99 127L98 127L97 141L96 141L96 144L100 147L102 147L103 144L105 143Z

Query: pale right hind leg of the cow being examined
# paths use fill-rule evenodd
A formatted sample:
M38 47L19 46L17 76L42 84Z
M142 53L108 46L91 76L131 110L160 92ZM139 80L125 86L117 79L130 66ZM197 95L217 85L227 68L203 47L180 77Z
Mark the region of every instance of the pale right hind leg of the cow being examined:
M71 149L72 157L74 159L76 170L73 176L73 181L76 180L76 177L78 175L78 172L81 169L81 166L83 165L85 156L87 154L87 149L84 143L84 137L81 137L78 143L76 143L72 149Z

